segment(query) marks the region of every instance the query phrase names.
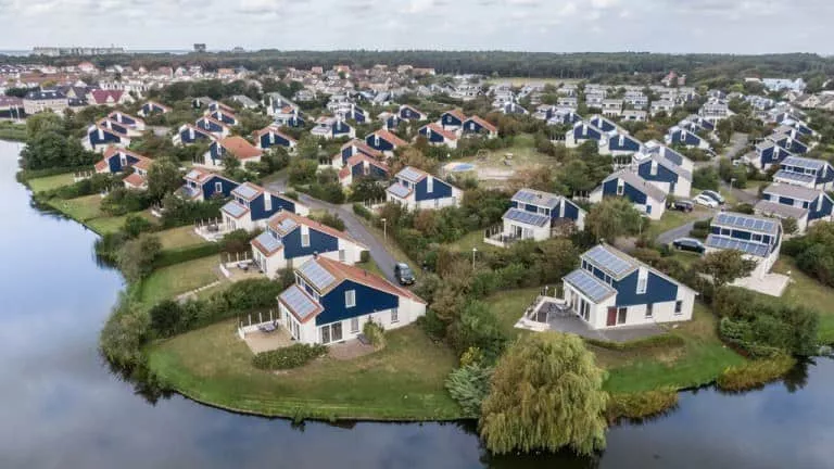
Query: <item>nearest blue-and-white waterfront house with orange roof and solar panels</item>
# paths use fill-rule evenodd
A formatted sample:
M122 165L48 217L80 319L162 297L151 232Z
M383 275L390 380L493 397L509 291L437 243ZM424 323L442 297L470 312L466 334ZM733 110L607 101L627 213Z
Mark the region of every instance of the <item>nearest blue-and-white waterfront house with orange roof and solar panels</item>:
M367 270L317 256L295 268L278 309L294 341L328 345L356 339L369 321L384 330L413 324L426 302Z

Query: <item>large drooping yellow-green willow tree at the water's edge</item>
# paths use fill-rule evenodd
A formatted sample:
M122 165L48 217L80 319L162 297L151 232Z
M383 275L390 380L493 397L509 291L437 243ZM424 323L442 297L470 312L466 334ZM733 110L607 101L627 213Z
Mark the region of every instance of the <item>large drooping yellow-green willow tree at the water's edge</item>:
M481 408L481 438L493 453L605 446L605 372L577 335L519 338L497 363Z

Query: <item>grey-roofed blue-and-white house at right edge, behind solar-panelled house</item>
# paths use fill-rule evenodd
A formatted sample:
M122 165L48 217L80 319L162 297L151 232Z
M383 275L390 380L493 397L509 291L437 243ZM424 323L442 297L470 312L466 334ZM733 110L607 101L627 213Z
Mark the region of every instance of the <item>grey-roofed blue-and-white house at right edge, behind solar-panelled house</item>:
M754 207L756 214L796 220L797 234L817 221L831 221L834 200L824 191L803 186L772 183Z

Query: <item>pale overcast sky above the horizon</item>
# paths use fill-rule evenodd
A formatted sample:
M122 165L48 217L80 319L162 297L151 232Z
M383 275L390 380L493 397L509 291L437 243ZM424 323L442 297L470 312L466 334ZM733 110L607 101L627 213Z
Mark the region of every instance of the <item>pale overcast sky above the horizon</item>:
M0 50L818 52L834 0L0 0Z

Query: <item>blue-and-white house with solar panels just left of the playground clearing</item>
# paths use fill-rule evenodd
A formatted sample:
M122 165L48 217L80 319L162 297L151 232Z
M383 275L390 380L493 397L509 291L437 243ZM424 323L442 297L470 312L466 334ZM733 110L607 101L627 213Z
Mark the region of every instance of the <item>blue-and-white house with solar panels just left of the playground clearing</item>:
M422 169L406 166L394 175L394 182L386 190L388 202L407 210L434 210L459 206L464 192L451 183Z

